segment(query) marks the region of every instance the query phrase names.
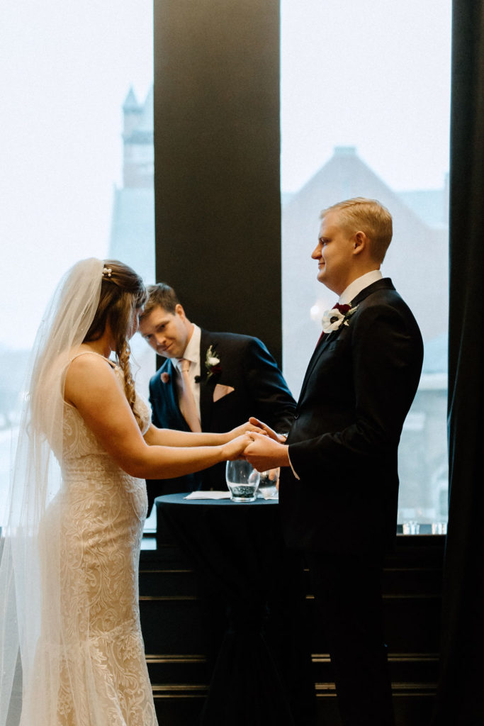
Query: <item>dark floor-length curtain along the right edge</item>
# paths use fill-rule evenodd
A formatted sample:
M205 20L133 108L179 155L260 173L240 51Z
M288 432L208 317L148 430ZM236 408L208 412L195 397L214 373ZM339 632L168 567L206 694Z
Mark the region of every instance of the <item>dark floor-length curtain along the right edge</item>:
M434 723L483 726L484 0L454 0L450 210L450 491Z

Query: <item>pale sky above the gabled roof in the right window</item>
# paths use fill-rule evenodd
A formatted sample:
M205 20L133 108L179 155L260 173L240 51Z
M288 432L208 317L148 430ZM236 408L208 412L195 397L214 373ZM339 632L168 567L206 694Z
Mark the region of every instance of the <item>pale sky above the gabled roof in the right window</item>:
M335 145L393 189L448 171L451 0L282 0L282 188Z

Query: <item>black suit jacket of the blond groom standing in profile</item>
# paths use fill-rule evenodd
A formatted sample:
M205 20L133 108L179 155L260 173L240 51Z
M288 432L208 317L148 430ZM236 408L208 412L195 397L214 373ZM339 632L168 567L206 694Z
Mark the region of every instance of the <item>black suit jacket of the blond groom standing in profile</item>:
M349 325L324 335L287 439L280 508L290 547L381 560L394 542L397 452L417 391L423 345L391 280L356 296Z

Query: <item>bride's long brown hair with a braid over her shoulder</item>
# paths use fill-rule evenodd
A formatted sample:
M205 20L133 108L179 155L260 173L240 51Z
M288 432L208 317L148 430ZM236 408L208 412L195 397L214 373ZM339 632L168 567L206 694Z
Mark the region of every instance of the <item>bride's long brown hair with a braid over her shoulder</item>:
M98 340L109 323L115 341L115 356L124 375L124 391L134 412L136 391L131 373L129 356L131 349L126 335L134 311L141 308L147 298L144 282L134 269L118 260L104 260L104 269L110 269L109 277L102 275L101 294L96 314L86 333L83 343Z

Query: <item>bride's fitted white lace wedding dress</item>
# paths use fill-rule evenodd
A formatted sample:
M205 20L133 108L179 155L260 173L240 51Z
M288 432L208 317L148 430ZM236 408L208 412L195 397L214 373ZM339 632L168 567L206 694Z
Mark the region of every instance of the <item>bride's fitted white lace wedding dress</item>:
M122 380L120 368L110 364ZM139 396L135 408L144 433L149 409ZM138 604L145 482L120 469L69 404L61 460L62 487L41 525L44 602L33 669L51 674L47 686L55 684L54 698L42 698L38 690L45 690L45 679L34 677L24 694L21 726L155 726ZM49 603L57 576L59 608ZM44 702L50 705L41 714L38 704Z

